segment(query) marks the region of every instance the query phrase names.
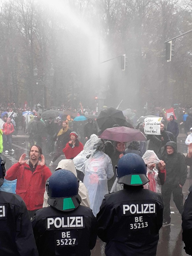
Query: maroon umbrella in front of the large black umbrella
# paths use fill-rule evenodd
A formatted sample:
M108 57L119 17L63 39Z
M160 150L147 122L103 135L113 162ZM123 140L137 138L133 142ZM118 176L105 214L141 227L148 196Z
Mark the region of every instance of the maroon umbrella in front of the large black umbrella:
M139 130L120 126L106 129L99 138L118 142L146 141L146 137Z

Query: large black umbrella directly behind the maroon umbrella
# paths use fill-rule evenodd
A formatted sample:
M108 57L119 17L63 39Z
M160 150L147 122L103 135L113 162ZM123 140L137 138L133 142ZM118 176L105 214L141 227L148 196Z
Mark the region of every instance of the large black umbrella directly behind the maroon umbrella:
M121 110L109 108L100 112L97 117L97 123L101 130L105 130L107 128L112 128L115 124L123 126L125 117Z

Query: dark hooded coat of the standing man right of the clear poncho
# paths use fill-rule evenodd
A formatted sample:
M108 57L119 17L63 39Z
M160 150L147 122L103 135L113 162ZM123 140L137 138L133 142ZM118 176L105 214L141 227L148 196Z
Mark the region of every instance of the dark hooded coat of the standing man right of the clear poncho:
M174 148L174 153L169 155L166 147L171 146ZM172 186L185 184L187 178L187 165L185 164L185 156L177 153L177 145L175 142L170 141L165 145L165 151L161 158L166 163L166 180L165 184Z

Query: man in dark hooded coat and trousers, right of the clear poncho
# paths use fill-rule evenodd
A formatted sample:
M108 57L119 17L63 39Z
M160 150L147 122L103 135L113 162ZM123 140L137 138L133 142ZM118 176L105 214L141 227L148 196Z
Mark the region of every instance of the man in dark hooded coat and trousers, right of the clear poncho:
M179 213L183 212L182 187L187 178L187 165L185 156L177 152L177 144L173 141L166 143L165 152L161 158L166 164L166 180L162 185L164 203L163 227L171 224L170 200L173 193L173 201Z

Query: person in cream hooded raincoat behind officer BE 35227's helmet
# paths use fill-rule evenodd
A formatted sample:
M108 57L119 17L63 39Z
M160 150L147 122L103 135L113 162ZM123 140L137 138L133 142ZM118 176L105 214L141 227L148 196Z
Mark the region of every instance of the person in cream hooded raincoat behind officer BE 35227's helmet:
M63 159L58 163L57 168L55 171L60 170L60 169L66 169L71 171L76 177L77 177L77 171L74 165L73 160L71 159ZM83 184L82 181L79 183L79 195L81 197L81 203L80 205L90 207L90 201L89 201L89 194L88 191ZM47 190L44 193L44 201L43 201L43 207L48 207L48 193Z

